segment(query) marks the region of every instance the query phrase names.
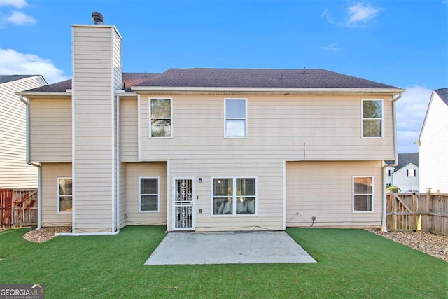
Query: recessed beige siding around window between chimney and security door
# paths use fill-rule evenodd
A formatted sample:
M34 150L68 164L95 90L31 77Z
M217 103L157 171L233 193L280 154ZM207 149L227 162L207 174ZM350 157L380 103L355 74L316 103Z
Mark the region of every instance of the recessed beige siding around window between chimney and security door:
M159 211L139 212L139 178L159 177ZM127 163L127 225L163 225L167 223L167 163Z

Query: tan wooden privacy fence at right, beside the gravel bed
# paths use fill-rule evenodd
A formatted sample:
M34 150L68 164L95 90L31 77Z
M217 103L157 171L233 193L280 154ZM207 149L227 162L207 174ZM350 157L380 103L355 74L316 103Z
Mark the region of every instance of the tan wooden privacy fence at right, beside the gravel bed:
M448 194L387 193L388 230L423 230L448 234Z

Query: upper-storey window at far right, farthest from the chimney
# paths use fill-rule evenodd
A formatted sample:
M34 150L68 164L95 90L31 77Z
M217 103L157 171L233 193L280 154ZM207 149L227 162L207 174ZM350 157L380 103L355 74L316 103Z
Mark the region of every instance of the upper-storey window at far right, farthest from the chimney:
M363 137L383 137L383 100L363 99Z

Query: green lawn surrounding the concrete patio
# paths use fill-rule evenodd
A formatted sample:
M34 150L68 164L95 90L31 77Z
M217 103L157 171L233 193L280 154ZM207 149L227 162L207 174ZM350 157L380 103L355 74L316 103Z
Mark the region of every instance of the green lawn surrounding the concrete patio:
M43 244L8 230L0 284L45 284L45 298L448 298L448 263L365 230L288 228L312 264L145 266L164 230Z

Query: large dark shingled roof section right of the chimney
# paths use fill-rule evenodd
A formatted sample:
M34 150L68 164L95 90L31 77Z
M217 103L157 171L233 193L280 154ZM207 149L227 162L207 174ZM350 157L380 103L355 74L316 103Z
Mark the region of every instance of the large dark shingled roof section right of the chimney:
M206 88L395 88L325 69L168 69L137 86Z

